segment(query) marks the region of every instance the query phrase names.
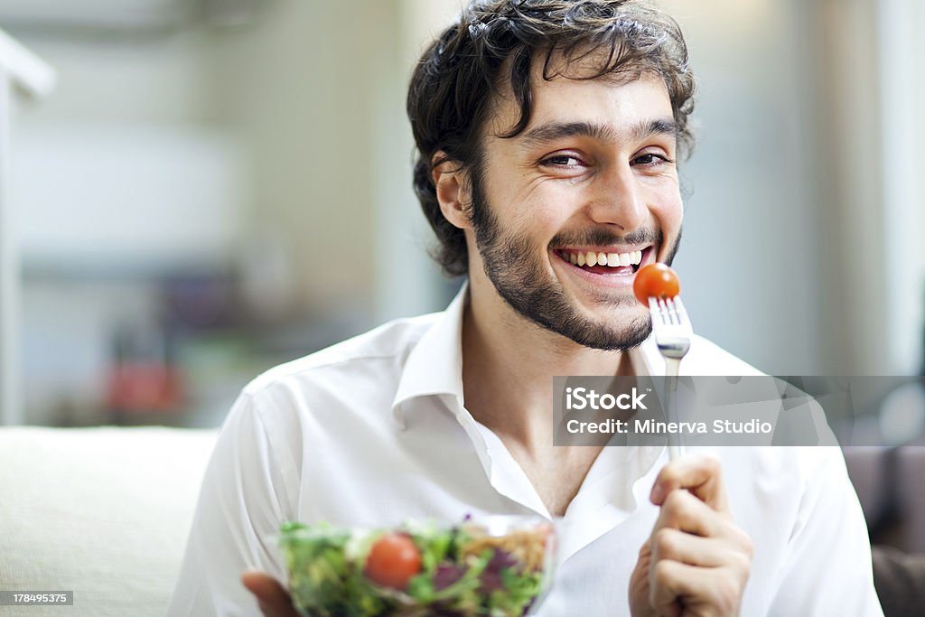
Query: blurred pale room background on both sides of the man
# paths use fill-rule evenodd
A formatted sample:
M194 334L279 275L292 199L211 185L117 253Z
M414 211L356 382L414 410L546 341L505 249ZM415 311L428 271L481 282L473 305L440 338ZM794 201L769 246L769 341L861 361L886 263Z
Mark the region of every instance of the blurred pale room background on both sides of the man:
M403 103L460 4L0 0L56 71L3 120L0 419L218 426L269 366L443 308ZM925 6L660 4L698 76L697 331L771 374L919 374Z

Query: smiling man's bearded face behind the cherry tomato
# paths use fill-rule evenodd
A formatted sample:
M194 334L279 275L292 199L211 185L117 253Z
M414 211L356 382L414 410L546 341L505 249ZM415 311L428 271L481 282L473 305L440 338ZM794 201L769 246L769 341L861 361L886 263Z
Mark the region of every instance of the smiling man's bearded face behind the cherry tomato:
M497 136L519 115L507 98L483 137L470 276L487 276L542 327L587 347L629 349L650 331L635 271L670 264L681 236L667 88L648 74L622 83L547 81L535 71L532 92L521 134Z

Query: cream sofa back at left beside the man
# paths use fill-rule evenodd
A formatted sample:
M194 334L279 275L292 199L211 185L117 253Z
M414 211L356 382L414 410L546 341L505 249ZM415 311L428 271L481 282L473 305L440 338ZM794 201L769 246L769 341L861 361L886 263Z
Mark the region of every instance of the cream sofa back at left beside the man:
M0 429L0 589L72 590L4 615L164 615L216 431Z

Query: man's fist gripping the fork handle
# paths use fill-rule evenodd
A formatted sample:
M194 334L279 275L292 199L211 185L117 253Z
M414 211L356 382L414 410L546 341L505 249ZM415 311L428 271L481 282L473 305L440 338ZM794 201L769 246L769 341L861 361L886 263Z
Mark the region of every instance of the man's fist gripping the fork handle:
M704 456L668 463L649 499L661 512L630 578L634 617L738 615L752 543L729 512L720 463Z

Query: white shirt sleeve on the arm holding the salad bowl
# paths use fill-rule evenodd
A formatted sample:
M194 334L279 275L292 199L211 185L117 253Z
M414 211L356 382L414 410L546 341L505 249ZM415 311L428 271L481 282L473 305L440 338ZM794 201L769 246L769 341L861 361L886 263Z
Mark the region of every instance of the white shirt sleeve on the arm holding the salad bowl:
M283 444L271 435L253 399L242 394L203 476L169 617L261 614L240 584L248 568L285 585L274 536L290 517L290 490L279 465Z

